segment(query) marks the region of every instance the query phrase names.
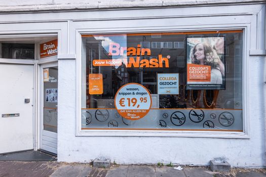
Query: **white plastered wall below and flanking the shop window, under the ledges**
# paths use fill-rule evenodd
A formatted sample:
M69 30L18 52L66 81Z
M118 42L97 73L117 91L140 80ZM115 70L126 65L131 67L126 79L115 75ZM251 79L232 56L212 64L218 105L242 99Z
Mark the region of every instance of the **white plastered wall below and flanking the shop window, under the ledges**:
M233 166L264 166L265 134L263 92L265 69L263 57L252 57L249 81L252 81L250 102L250 139L167 138L167 137L75 137L74 60L59 61L60 112L58 123L58 161L89 162L105 157L120 164L149 164L163 162L208 165L213 158L226 158ZM61 73L60 71L60 73ZM70 81L69 81L70 80ZM68 88L67 90L65 88ZM265 88L264 88L265 91Z

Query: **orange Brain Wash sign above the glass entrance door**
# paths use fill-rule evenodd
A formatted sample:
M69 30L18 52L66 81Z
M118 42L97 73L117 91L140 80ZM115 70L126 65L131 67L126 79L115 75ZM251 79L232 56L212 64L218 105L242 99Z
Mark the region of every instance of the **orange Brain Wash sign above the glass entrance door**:
M51 40L40 45L40 58L57 55L57 39Z

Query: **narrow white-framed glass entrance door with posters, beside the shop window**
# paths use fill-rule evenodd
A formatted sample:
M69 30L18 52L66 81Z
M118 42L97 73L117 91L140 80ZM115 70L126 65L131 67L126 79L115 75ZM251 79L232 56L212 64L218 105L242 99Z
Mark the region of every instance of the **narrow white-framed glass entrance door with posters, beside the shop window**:
M41 137L40 148L57 154L58 65L41 66Z

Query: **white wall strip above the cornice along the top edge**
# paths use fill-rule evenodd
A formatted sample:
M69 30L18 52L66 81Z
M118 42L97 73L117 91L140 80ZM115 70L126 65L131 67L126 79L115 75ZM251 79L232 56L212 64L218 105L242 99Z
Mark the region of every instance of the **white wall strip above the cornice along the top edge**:
M84 10L84 9L110 9L110 8L137 8L137 7L176 7L192 5L217 5L217 4L242 4L263 3L264 0L44 0L44 1L1 1L0 12L20 11L62 11L62 10Z

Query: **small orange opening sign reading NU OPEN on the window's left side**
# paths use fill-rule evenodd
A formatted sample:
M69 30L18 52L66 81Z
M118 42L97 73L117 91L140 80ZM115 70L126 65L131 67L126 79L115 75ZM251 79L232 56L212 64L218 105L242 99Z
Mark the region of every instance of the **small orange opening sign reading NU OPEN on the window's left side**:
M89 74L89 94L101 95L103 93L102 74Z

